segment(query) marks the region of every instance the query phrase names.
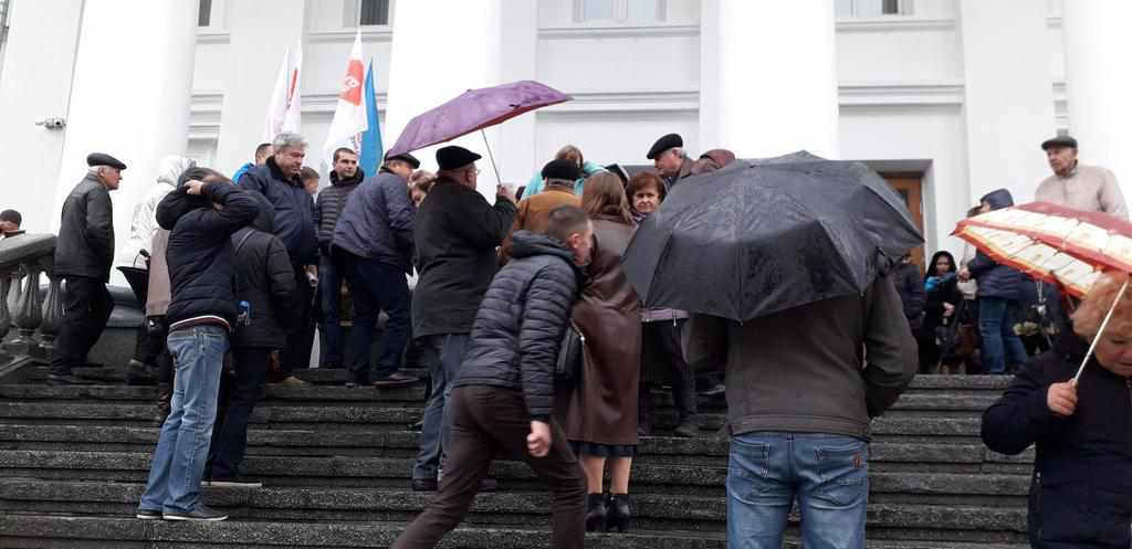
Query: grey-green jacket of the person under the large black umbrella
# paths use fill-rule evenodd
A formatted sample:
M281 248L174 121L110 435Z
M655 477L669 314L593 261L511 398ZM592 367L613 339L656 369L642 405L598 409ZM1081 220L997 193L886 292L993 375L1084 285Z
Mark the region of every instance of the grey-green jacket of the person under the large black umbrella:
M727 364L731 434L816 432L868 439L918 368L900 295L880 276L833 298L746 323L693 315L688 363Z

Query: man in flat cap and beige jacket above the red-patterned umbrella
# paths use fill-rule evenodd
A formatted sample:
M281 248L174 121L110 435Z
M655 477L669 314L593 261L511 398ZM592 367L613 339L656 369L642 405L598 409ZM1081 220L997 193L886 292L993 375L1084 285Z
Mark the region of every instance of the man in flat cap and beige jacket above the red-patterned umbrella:
M1046 152L1054 174L1038 183L1035 200L1129 218L1129 208L1116 175L1107 169L1079 163L1077 139L1057 136L1043 141L1041 149Z

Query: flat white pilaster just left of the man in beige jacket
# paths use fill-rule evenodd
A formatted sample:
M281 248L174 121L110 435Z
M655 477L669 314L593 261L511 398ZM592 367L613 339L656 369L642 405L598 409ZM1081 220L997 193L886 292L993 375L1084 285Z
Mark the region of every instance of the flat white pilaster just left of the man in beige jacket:
M1003 187L1031 201L1049 175L1039 147L1055 134L1046 12L1046 2L960 2L970 204Z

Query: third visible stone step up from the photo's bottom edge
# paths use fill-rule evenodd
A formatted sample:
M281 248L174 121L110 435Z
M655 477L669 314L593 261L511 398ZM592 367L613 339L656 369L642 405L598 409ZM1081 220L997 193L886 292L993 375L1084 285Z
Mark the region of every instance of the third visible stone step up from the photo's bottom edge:
M0 478L144 482L149 453L0 451ZM413 458L248 456L241 471L271 486L408 487ZM491 477L501 489L538 486L526 464L498 460ZM679 466L634 462L634 491L722 496L727 465ZM1029 477L892 472L874 467L874 500L1024 505ZM2 497L2 496L0 496ZM880 499L877 499L880 498Z

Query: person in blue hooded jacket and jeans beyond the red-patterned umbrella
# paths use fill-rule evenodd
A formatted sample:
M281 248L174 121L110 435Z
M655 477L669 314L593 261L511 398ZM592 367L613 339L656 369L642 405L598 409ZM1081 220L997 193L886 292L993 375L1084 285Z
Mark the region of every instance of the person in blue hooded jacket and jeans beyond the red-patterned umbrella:
M979 199L981 212L1002 209L1014 205L1006 189L992 191ZM1026 345L1014 333L1018 321L1022 284L1028 282L1021 272L1000 265L981 251L959 272L959 280L975 278L979 283L979 335L983 337L983 370L1005 374L1006 364L1018 367L1029 357Z

